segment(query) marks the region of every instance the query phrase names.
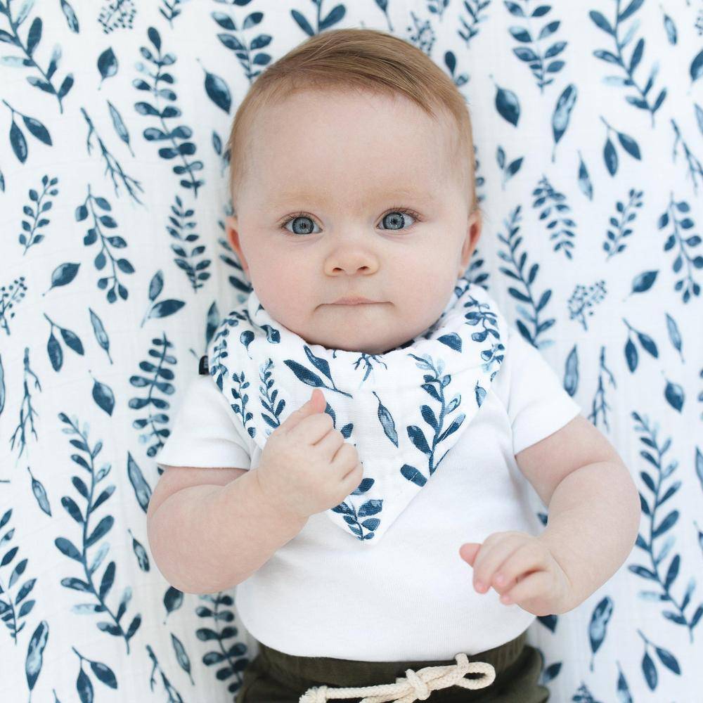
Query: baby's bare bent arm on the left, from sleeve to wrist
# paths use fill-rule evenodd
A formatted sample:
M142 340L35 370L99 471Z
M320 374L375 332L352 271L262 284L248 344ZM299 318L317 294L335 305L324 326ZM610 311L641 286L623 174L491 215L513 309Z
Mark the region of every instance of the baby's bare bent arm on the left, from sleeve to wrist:
M156 565L185 593L245 581L306 522L266 501L255 468L168 466L147 512Z

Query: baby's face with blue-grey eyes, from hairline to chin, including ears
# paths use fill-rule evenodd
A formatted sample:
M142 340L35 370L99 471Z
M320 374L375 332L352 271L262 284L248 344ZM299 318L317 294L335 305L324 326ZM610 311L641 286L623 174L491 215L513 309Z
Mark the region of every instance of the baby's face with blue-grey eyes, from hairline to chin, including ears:
M262 111L226 224L273 319L309 344L368 354L437 320L481 228L471 183L449 167L445 119L351 91L305 91ZM344 296L376 302L334 304Z

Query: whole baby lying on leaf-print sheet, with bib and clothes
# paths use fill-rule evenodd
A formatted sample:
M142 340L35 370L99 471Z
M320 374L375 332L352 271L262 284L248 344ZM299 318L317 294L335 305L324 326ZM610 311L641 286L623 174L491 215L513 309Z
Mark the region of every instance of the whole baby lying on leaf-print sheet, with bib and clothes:
M401 697L420 680L456 696L432 701L490 685L545 701L525 631L619 569L640 501L550 366L464 278L482 220L463 97L406 41L326 31L252 84L229 146L227 233L252 291L160 454L157 566L187 593L238 586L260 647L238 703L297 701L321 681L300 700L383 683ZM232 374L267 357L266 384ZM417 666L446 676L399 678Z

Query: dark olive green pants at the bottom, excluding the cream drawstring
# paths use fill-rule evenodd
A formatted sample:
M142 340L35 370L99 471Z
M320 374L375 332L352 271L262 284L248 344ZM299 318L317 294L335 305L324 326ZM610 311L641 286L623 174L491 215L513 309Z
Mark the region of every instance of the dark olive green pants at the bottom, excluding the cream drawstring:
M468 656L468 655L467 655ZM539 652L527 644L527 631L510 642L468 656L469 662L488 662L496 678L486 688L470 690L450 686L434 690L430 703L545 703L549 689L538 683L541 671ZM331 657L294 657L259 643L259 654L244 671L236 703L299 703L313 686L358 688L396 683L406 678L407 669L451 666L456 659L420 662L356 662ZM464 678L482 678L467 673ZM334 699L359 703L361 697Z

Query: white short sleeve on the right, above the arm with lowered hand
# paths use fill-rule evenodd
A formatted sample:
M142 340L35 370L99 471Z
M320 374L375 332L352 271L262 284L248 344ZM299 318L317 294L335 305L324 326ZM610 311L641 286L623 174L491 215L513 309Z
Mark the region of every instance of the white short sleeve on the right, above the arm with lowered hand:
M581 412L581 406L565 391L538 349L512 325L507 346L503 394L512 425L512 453L517 454L560 430Z

